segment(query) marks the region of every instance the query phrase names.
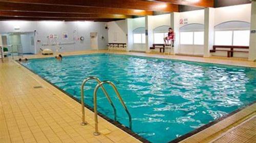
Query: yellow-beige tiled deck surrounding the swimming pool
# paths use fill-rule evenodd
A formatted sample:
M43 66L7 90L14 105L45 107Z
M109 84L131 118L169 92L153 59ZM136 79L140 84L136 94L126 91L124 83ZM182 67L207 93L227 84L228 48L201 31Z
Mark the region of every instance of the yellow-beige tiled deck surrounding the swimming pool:
M97 53L108 51L81 51L62 53L62 55ZM156 58L187 60L195 62L218 63L246 67L256 67L256 63L243 59L227 58L196 58L190 56L161 55L135 52L118 52L151 56ZM50 55L51 56L51 55ZM42 58L43 55L30 55L28 58ZM225 136L246 138L247 134L238 130L241 123L253 124L255 120L246 122L255 115L256 104L252 104L232 116L202 130L182 142L222 142ZM80 126L81 105L62 93L53 85L41 79L28 69L17 64L10 58L0 62L0 142L140 142L113 124L99 117L99 136L94 136L93 112L86 109L87 126ZM243 125L243 124L242 124ZM242 125L240 127L242 127ZM233 129L234 128L234 129ZM232 130L233 129L233 130ZM254 127L255 129L255 127ZM250 130L255 139L255 130ZM223 136L224 133L224 136ZM241 134L240 134L241 133ZM221 136L221 137L220 137ZM251 137L251 134L247 138ZM217 138L217 140L216 140ZM252 141L253 138L251 139ZM250 140L247 140L250 141Z

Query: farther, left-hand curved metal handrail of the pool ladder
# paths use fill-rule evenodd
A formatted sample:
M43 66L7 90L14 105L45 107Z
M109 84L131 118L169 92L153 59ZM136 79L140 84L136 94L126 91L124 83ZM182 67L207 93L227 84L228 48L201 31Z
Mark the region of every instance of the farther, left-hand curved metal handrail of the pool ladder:
M82 82L82 84L81 84L81 106L82 106L82 123L81 123L81 125L82 125L82 126L87 125L86 118L85 118L85 113L84 113L84 94L83 94L83 87L84 87L84 85L86 84L86 82L87 82L88 80L92 80L92 79L95 79L98 83L101 83L101 81L99 80L99 78L90 76L90 77L88 77L87 79L84 79L83 82ZM106 90L105 90L105 88L103 87L103 85L101 86L101 89L102 89L103 93L105 94L106 98L108 99L108 101L110 102L111 106L113 107L114 116L115 116L115 121L116 121L116 107L114 106L113 102L111 101L110 96L109 96L109 94L106 92Z

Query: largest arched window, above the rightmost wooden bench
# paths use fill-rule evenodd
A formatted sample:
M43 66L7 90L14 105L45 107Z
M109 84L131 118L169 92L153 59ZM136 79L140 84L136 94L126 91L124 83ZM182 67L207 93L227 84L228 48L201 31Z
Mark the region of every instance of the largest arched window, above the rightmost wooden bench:
M227 21L215 26L215 45L249 46L250 23Z

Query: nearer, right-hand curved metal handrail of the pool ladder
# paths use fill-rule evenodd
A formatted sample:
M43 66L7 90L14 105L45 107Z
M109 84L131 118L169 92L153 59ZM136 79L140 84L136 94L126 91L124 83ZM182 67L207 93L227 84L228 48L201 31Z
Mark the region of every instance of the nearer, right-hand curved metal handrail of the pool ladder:
M96 85L95 89L94 89L94 94L93 94L93 101L94 101L94 120L95 120L95 132L93 133L94 135L99 135L99 131L98 131L98 111L97 111L97 91L99 89L99 87L103 86L103 84L105 83L108 83L112 86L112 88L114 89L118 99L120 100L123 108L125 109L128 117L129 117L129 126L130 126L130 129L132 129L132 117L131 117L131 114L129 112L129 110L127 109L126 105L124 104L123 102L123 99L122 97L120 96L117 88L116 88L116 85L111 82L111 81L102 81L100 82L99 84Z

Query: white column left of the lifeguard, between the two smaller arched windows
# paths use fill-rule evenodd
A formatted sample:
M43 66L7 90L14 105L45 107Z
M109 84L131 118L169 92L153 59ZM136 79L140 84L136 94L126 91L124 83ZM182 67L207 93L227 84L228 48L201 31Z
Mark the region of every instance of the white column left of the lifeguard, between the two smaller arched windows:
M150 47L153 46L153 16L145 16L145 30L146 30L146 52L150 52Z

